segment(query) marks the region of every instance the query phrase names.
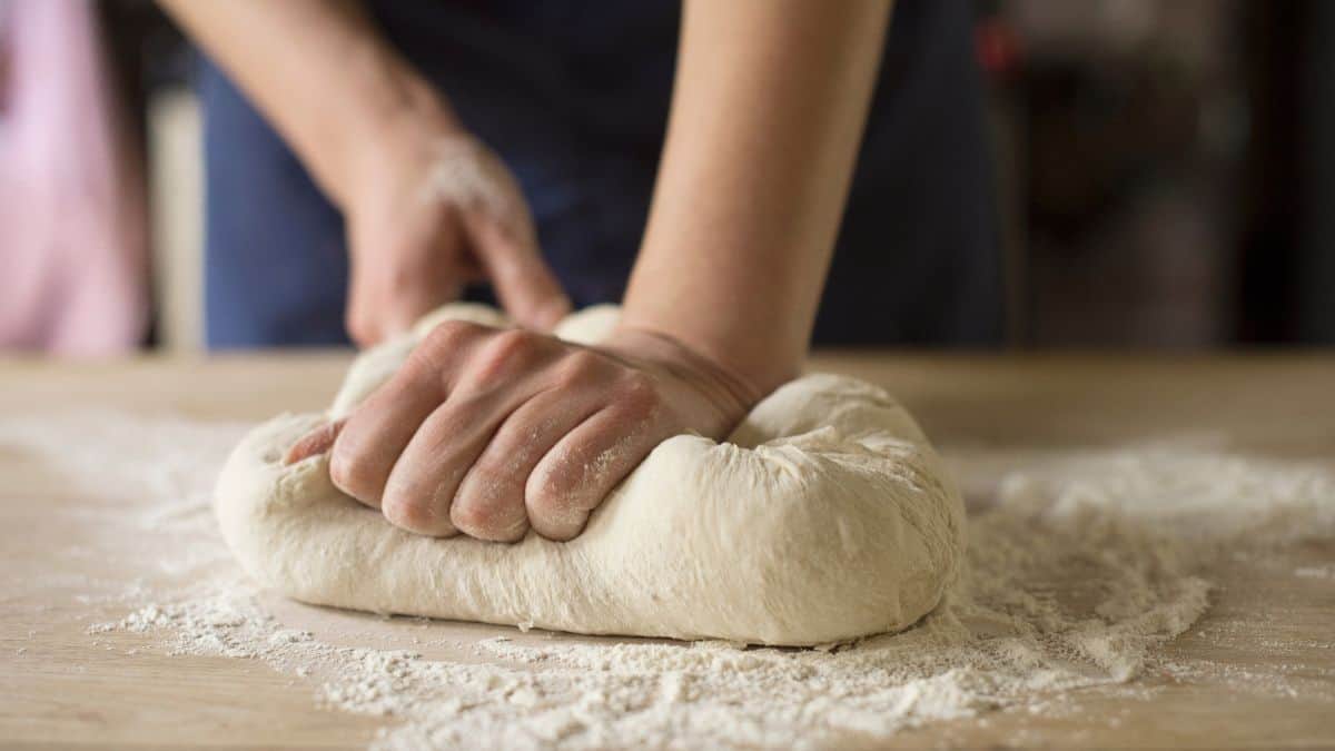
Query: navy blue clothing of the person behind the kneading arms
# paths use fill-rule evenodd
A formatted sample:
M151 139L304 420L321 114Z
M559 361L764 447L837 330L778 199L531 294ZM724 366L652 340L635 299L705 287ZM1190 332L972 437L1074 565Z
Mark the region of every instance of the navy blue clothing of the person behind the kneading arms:
M619 301L662 147L680 4L372 0L370 8L514 170L543 254L575 305ZM199 83L210 346L346 342L338 212L215 67L206 63ZM901 0L816 339L995 343L1001 298L969 3Z

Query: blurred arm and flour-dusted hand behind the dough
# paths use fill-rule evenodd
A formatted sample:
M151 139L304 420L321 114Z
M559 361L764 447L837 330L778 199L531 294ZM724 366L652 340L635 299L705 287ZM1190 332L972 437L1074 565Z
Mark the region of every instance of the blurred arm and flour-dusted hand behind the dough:
M514 178L360 4L160 1L342 210L347 322L360 343L409 327L478 278L526 325L550 326L569 310ZM434 183L442 174L473 179ZM422 199L429 190L437 200Z

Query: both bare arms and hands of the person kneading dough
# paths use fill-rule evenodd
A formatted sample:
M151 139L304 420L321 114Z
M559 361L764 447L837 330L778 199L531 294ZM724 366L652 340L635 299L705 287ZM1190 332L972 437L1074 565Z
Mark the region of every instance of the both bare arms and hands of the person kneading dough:
M348 325L407 327L463 281L521 327L445 323L346 422L335 485L405 529L555 540L662 440L720 438L797 374L889 21L888 0L688 0L649 223L615 333L542 331L569 305L499 160L505 208L421 200L433 150L469 143L449 103L340 0L163 0L292 144L348 219ZM491 202L497 203L497 202Z

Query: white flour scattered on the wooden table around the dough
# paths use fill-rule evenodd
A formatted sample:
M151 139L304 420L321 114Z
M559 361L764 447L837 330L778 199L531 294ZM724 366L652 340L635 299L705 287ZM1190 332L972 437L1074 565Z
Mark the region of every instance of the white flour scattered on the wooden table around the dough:
M239 434L116 416L0 420L0 449L105 498L99 545L175 583L123 588L108 615L117 601L136 609L120 617L121 605L89 639L148 632L171 652L262 660L323 706L386 716L382 748L816 747L1000 708L1060 712L1071 690L1172 672L1156 648L1210 607L1211 564L1335 532L1335 477L1312 466L1189 442L947 449L975 506L967 576L900 635L825 651L519 632L449 641L426 621L348 615L366 636L347 647L282 623L227 560L208 490ZM136 544L112 551L116 539ZM421 649L371 648L388 627Z

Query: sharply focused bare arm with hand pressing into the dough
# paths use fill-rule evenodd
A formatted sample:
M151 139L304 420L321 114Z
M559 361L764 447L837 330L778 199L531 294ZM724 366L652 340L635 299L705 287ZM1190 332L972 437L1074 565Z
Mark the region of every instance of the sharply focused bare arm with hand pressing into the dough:
M449 322L344 424L330 477L423 535L581 532L659 442L726 436L806 350L886 1L693 0L658 186L597 347Z

